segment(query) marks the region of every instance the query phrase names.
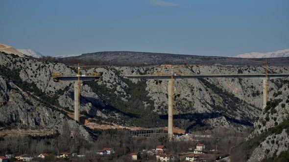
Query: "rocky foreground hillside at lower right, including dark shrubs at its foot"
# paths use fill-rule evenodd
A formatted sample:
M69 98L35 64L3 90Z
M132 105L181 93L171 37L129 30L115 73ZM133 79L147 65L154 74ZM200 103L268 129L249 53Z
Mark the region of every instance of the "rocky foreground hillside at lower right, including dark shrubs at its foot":
M254 131L247 142L232 149L231 160L234 162L289 160L289 80L287 78L271 82L275 84L276 91L254 122Z

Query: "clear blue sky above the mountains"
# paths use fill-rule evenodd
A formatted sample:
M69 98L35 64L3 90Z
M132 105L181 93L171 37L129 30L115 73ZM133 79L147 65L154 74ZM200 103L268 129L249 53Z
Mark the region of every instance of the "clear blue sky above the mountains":
M289 0L0 0L0 42L44 55L289 48Z

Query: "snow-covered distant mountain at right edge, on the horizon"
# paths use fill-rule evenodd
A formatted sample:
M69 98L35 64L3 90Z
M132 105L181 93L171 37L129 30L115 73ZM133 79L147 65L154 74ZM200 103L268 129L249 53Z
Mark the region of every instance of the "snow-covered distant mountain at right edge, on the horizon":
M267 53L251 52L236 56L236 58L281 58L281 57L289 57L289 49Z

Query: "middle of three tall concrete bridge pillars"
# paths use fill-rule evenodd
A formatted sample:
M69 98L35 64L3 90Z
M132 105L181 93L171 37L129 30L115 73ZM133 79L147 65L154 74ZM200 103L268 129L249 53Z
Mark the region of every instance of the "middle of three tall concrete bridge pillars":
M172 97L173 97L173 85L171 83L171 81L168 81L168 98L169 98L169 108L168 108L168 136L169 136L169 140L171 140L173 138L173 132L172 132L172 121L173 121L173 113L172 113Z

